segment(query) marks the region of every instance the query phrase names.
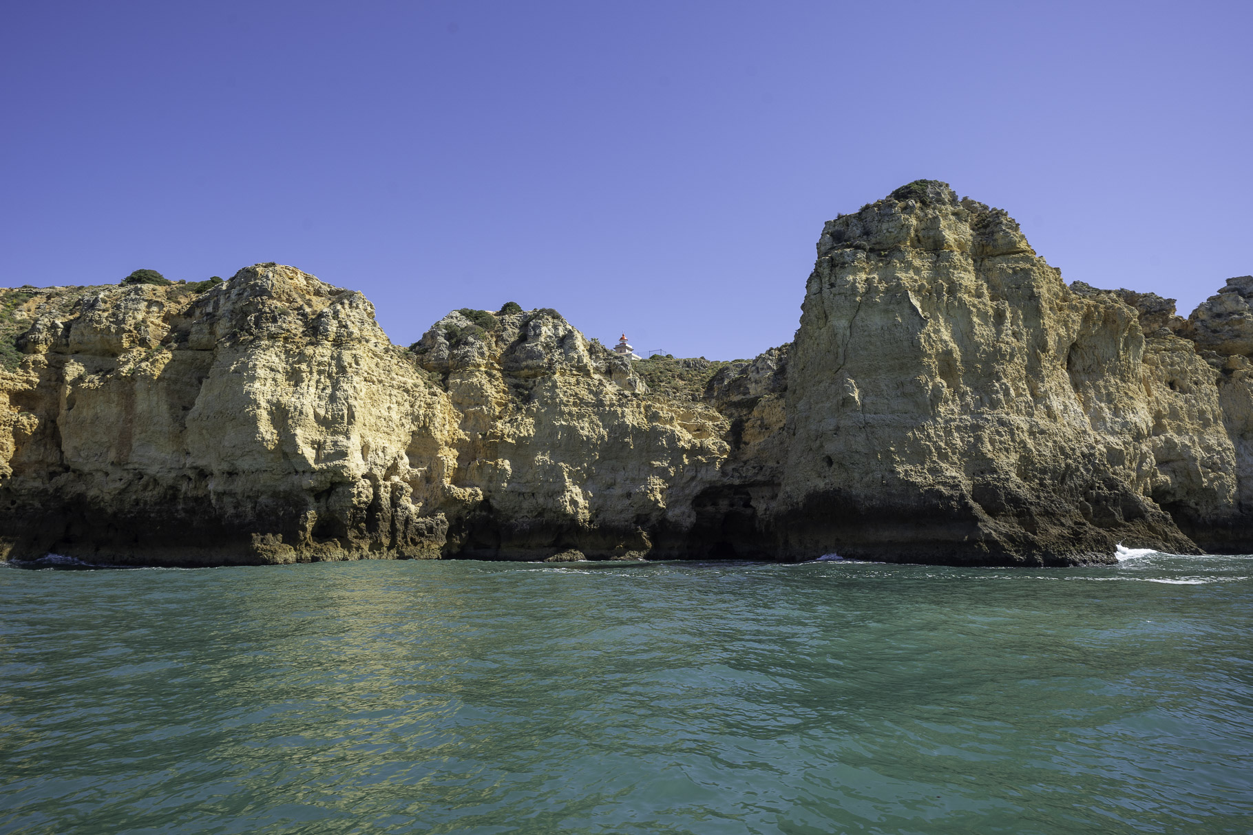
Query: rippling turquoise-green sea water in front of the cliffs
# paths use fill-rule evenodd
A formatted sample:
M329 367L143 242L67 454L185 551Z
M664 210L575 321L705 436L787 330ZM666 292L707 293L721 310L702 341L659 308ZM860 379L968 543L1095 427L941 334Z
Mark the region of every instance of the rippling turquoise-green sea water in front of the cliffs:
M1250 577L0 568L0 832L1250 832Z

